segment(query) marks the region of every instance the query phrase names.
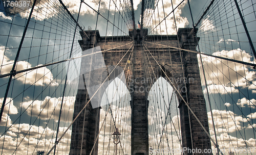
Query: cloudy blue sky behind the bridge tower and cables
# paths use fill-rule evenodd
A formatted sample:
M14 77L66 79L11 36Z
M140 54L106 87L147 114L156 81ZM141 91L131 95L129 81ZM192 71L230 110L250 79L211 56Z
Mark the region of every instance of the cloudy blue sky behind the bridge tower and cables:
M92 30L96 28L99 30L100 36L128 34L128 28L132 27L132 23L127 8L120 7L122 6L122 2L123 1L121 1L120 5L120 1L101 0L99 7L99 1L86 1L91 8L86 4L82 4L79 24L85 30L87 30L88 27L91 27ZM152 14L154 9L148 5L149 3L146 3L144 12L144 26L151 34L171 35L176 34L176 25L177 28L193 26L187 1L182 3L182 5L175 10L176 25L171 11L173 7L175 8L182 1L173 1L173 6L168 0L159 1L157 6L156 2L157 1L153 2L153 5L157 7L154 15ZM67 0L63 1L63 3L74 17L77 18L80 1ZM117 7L115 7L114 3ZM253 24L255 23L253 22L255 20L255 12L253 14L253 11L251 11L253 8L250 3L249 1L242 1L242 8L244 8L243 14L245 15L248 30L252 34L252 40L255 40L256 35ZM205 2L202 0L190 2L195 21L199 19L203 12L202 10L205 9L208 4L209 1ZM8 8L9 12L15 14L14 16L6 13L3 6L4 3L1 1L0 73L6 74L9 73L12 68L30 10L27 10L26 7L20 7L19 9ZM30 4L30 7L31 6L32 3ZM215 10L218 10L218 6L224 6L222 8L226 8L226 10L219 8L219 12L214 12L211 8L209 12L214 12L214 14L206 14L204 19L199 23L198 36L200 37L200 51L216 56L255 63L238 13L235 8L230 7L233 6L233 4L230 5L229 2L225 4L220 2L215 3L214 6ZM101 16L99 16L97 20L97 13L92 8L97 11L99 9L100 14L109 19L110 22L106 22ZM141 20L141 1L134 1L134 9L135 23L137 26L138 20ZM232 12L232 10L234 11ZM121 14L118 14L118 11L120 11ZM221 16L225 13L227 16ZM230 15L230 13L235 15ZM166 20L163 20L165 17ZM148 18L151 18L151 20L148 20ZM123 19L125 19L128 28L125 26ZM116 27L113 27L112 23L122 31L118 31ZM158 26L156 27L156 25ZM33 12L15 69L23 70L69 58L74 29L75 23L59 6L58 1L43 0L40 1L40 3L36 3L35 11ZM77 42L79 39L81 39L80 34L76 33L72 57L80 56L81 54L81 49ZM256 126L256 98L254 97L256 94L255 70L249 66L216 58L202 56L202 59L206 73L207 88L210 93L210 104L212 109L214 109L212 115L214 116L220 147L246 147L245 142L247 143L247 147L255 147L255 129L253 128ZM74 66L75 63L71 65ZM67 73L65 67L67 66L68 63L60 63L15 75L10 86L6 102L7 105L0 123L0 141L4 142L0 143L2 154L35 154L37 150L47 151L53 146L56 137L56 125L62 100L63 85ZM202 69L200 61L199 67ZM78 67L74 66L74 68ZM72 69L69 71L69 74L77 74L77 71ZM203 91L205 98L207 98L202 70L201 77ZM1 78L0 81L1 105L4 99L8 77ZM163 83L167 85L167 83ZM59 135L67 129L69 123L72 121L73 105L78 88L77 85L78 80L69 81L68 83L67 91L63 98L64 105L60 119ZM156 87L155 89L158 90L160 88ZM171 92L172 87L168 85L167 88L162 88L163 92L166 92L166 89ZM170 101L168 98L164 100L162 99L159 102ZM206 99L206 102L209 125L212 126L208 99ZM117 105L118 101L116 101L112 107L114 115L121 115L122 113L119 113L120 111L126 113L125 116L118 117L120 120L117 121L120 122L118 125L123 125L123 133L127 133L126 137L122 137L122 141L125 139L125 142L122 143L124 147L126 144L129 144L131 137L129 132L125 132L129 131L131 128L129 122L131 109L129 109L129 106L117 108ZM172 107L175 111L175 98L172 99ZM163 106L158 109L151 107L150 111L159 111L159 115L163 115L164 117L166 115L164 108L166 107ZM174 111L167 119L168 123L166 124L167 128L172 128L172 130L166 131L162 139L166 139L168 138L167 135L173 134L173 146L179 147L179 133L177 134L174 130L174 126L175 128L179 128L177 121L179 116L173 115L175 114ZM105 112L106 111L101 110L101 122L104 119ZM151 118L151 115L149 115L149 117L151 127L162 131L163 123L156 123L156 121L154 121L156 118ZM173 120L173 124L171 123L172 121L170 121L171 119ZM124 122L124 120L126 120L126 122ZM106 122L108 123L106 123L106 128L104 128L104 130L102 129L99 135L99 150L103 149L103 140L104 148L110 147L113 149L114 147L112 140L109 142L111 138L110 133L112 133L114 129L113 122L110 124L111 121L113 120L110 112L108 112L108 117L106 118ZM164 122L165 120L162 121ZM108 134L104 134L107 132ZM213 132L211 127L210 134L212 138L214 138ZM71 128L60 141L58 153L69 153L70 137ZM152 133L149 137L152 141L154 139L155 142L160 141L160 135L157 135L157 137L155 135L154 137ZM110 144L110 146L108 146L108 144ZM164 143L163 146L166 147L168 145ZM18 148L17 151L15 151L16 147ZM127 147L126 150L129 150L128 148L130 149L130 147Z

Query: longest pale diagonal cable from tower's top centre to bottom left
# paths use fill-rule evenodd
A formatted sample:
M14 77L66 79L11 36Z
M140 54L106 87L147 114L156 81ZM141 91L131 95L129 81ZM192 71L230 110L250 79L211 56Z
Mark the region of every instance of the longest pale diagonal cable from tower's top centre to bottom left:
M126 56L126 54L130 51L130 49L132 48L134 44L131 45L131 47L126 51L126 53L124 54L124 56L121 58L121 60L117 63L117 65L115 66L115 68L110 72L110 74L108 75L108 77L102 82L102 84L100 85L100 87L95 91L95 93L92 95L92 97L87 101L86 105L84 105L84 107L81 109L81 111L77 114L76 118L74 118L74 120L70 123L70 125L68 126L68 128L66 129L65 132L63 132L63 134L59 137L59 139L56 141L56 143L53 145L53 147L50 149L50 151L46 154L49 155L51 153L51 151L54 149L54 147L59 143L59 141L63 138L63 136L68 132L69 128L71 127L71 125L76 121L76 119L78 118L78 116L82 113L82 111L87 107L87 105L89 105L89 102L92 100L92 98L95 96L95 94L99 91L99 89L101 88L101 86L103 85L103 83L109 78L109 76L112 74L112 72L116 69L116 67L121 63L122 59Z

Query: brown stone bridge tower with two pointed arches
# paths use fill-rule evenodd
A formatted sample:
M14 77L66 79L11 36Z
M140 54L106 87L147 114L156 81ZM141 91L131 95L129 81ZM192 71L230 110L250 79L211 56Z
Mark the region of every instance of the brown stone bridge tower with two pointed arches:
M155 44L147 43L147 48L154 55L154 50L158 49L162 51L162 54L155 55L154 57L159 60L159 64L162 69L166 72L163 74L159 65L154 63L155 60L150 58L153 68L155 68L155 72L159 73L158 76L169 77L169 79L175 79L179 77L185 77L186 79L193 79L193 83L175 83L176 87L186 87L187 95L182 93L182 97L188 101L190 108L199 118L201 123L204 125L207 131L209 131L208 127L208 118L207 111L205 105L205 99L202 91L201 80L200 80L200 72L197 61L197 54L189 53L187 51L180 51L177 49L170 49L168 47L163 47L161 45L168 45L173 47L180 47L183 49L196 50L197 40L199 38L195 38L194 29L191 28L182 28L178 30L177 35L154 35L154 36L146 36L143 34L147 34L147 30L143 29L143 33L140 33L140 30L137 29L136 32L133 30L130 31L130 36L114 36L114 37L100 37L98 31L84 31L80 32L82 40L79 40L81 48L84 50L86 48L92 48L96 46L100 46L101 50L111 49L113 47L121 46L127 44L128 42L132 42L134 40L134 52L133 52L133 64L132 64L132 78L136 78L137 81L142 80L142 77L145 75L145 67L143 62L143 57L145 55L142 42L154 42ZM90 39L88 39L88 37ZM130 39L129 39L130 38ZM179 38L179 40L177 39ZM146 42L143 42L146 44ZM111 53L111 50L106 50L102 52L104 58L104 64L106 66L117 65L117 62L122 58L125 52L130 48L131 44L122 46L118 49L115 49L115 53ZM170 53L170 54L169 54ZM181 57L182 61L181 62ZM97 59L97 58L92 58ZM118 65L120 67L124 67L128 57L124 57L121 63ZM89 61L89 60L84 60ZM82 61L81 70L85 69ZM182 66L183 65L183 66ZM183 71L184 69L184 71ZM104 72L104 71L103 71ZM94 73L96 76L101 76L102 74ZM108 75L107 72L104 72L105 75ZM127 71L124 71L124 74L127 74ZM152 72L153 75L153 72ZM80 110L84 107L86 102L90 99L88 95L88 91L84 84L84 80L86 79L88 82L93 82L95 79L87 79L87 75L81 75L79 77L79 86L84 86L85 89L78 89L75 101L74 108L74 118L80 112ZM129 80L129 79L128 79ZM166 79L167 80L167 79ZM168 80L167 80L168 81ZM126 82L129 82L126 80ZM94 82L97 83L97 82ZM154 83L154 80L153 80ZM149 85L151 87L151 85ZM133 85L133 89L140 87L148 87L143 83L137 82ZM139 93L131 93L131 108L132 108L132 155L148 155L148 122L147 122L147 93L139 92ZM210 139L207 137L206 133L203 131L200 124L197 122L196 118L188 111L184 101L177 94L179 100L179 109L180 109L180 122L181 122L181 135L182 135L182 147L186 148L201 148L208 149L210 146ZM89 155L94 142L97 138L97 133L99 131L99 109L100 108L92 108L92 105L88 105L85 113L84 111L75 121L72 127L72 136L71 136L71 148L70 155L80 154L80 150L82 149L82 154ZM190 121L190 123L189 123ZM191 129L191 130L190 130ZM81 145L82 142L82 145ZM96 143L93 153L97 155L98 143ZM192 154L189 152L185 152L184 154ZM197 153L194 153L197 154ZM201 153L198 153L201 154ZM205 154L205 153L204 153ZM210 153L209 153L210 154Z

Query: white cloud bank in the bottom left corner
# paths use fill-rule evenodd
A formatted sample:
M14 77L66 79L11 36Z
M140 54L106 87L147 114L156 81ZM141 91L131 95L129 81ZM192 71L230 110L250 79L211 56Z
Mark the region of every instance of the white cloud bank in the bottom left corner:
M62 135L67 127L59 127L59 136ZM18 136L18 137L17 137ZM38 150L48 150L52 148L56 137L56 131L49 127L29 125L27 123L14 124L10 127L5 136L0 137L0 147L4 154L13 154L18 144L17 152L19 154L35 154ZM63 136L57 145L57 151L60 154L69 154L71 130ZM4 147L3 147L4 144ZM49 151L49 150L48 150Z

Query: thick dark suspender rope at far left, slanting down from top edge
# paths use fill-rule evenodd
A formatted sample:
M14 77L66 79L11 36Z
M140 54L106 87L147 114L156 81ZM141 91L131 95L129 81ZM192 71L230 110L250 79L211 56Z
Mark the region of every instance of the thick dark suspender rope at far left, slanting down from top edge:
M20 40L19 47L18 47L18 51L17 51L16 57L15 57L15 60L14 60L14 62L13 62L12 70L10 71L11 73L12 73L12 72L15 72L15 67L16 67L16 64L17 64L17 61L18 61L18 56L19 56L19 53L20 53L20 49L22 49L22 44L23 44L23 41L24 41L26 32L27 32L27 30L28 30L29 22L30 22L30 19L31 19L31 16L32 16L32 13L33 13L35 4L36 4L36 1L37 1L37 0L34 0L34 2L33 2L33 6L32 6L32 8L31 8L31 11L30 11L30 14L29 14L29 18L28 18L28 21L27 21L27 23L26 23L26 27L25 27L24 32L23 32L23 35L22 35L22 40ZM14 75L15 75L15 74L14 74ZM5 97L4 97L3 104L2 104L2 108L1 108L1 111L0 111L0 122L1 122L1 119L2 119L3 112L4 112L5 102L6 102L7 95L8 95L8 92L9 92L9 88L10 88L10 85L11 85L12 76L13 76L13 74L10 75L10 77L9 77L9 81L8 81L7 88L6 88L6 91L5 91Z

